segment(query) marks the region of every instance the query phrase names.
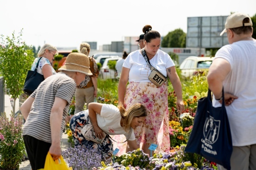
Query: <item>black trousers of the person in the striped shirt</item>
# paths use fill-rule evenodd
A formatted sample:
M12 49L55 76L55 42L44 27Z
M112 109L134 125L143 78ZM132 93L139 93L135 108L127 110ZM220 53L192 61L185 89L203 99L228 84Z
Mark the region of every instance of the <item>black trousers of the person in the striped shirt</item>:
M45 159L52 144L28 135L24 135L23 139L32 170L44 168Z

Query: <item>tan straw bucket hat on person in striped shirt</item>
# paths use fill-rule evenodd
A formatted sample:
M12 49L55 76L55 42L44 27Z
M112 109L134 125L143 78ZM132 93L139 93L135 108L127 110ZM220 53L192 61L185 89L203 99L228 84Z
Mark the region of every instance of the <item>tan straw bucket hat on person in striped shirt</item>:
M78 52L68 54L66 63L59 69L59 71L61 70L77 71L88 76L93 75L90 70L89 58L85 54Z

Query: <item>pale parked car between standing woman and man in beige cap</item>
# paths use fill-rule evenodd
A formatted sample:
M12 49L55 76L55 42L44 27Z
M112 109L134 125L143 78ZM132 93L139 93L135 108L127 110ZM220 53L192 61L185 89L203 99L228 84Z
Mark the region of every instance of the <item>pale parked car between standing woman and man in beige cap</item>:
M182 76L190 77L196 74L202 74L203 71L209 70L214 57L187 57L180 65Z

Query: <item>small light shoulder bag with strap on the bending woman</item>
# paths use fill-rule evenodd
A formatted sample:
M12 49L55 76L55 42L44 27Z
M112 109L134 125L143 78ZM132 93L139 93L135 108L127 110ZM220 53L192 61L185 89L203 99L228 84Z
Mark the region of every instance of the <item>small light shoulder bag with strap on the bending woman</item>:
M90 117L88 116L88 117L87 117L87 120L86 120L86 125L81 129L82 135L84 136L84 138L85 138L86 140L91 140L91 141L93 141L94 143L102 144L103 141L104 141L104 139L106 138L106 136L107 136L108 134L106 134L105 132L103 132L103 136L104 136L104 137L103 137L102 139L99 139L99 138L95 135L94 127L93 127L91 124L88 123L88 122L89 122L89 119L90 119ZM132 128L130 129L128 139L131 137L131 135L132 135ZM109 135L108 135L108 137L109 137L110 139L112 139ZM114 139L112 139L112 140L114 140ZM114 140L114 141L115 141L115 140ZM126 142L126 141L127 141L127 139L126 139L124 142ZM117 142L117 141L115 141L115 142ZM124 143L124 142L121 142L121 143ZM120 143L120 142L117 142L117 143Z

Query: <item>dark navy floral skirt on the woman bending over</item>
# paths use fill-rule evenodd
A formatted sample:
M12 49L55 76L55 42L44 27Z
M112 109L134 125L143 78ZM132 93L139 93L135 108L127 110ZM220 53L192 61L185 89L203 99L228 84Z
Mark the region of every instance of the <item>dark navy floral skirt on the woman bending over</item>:
M81 129L85 126L88 117L88 111L76 113L70 120L69 127L74 139L74 146L83 145L88 149L97 149L101 152L101 158L112 156L113 144L107 135L102 144L94 143L93 141L86 140L81 134Z

